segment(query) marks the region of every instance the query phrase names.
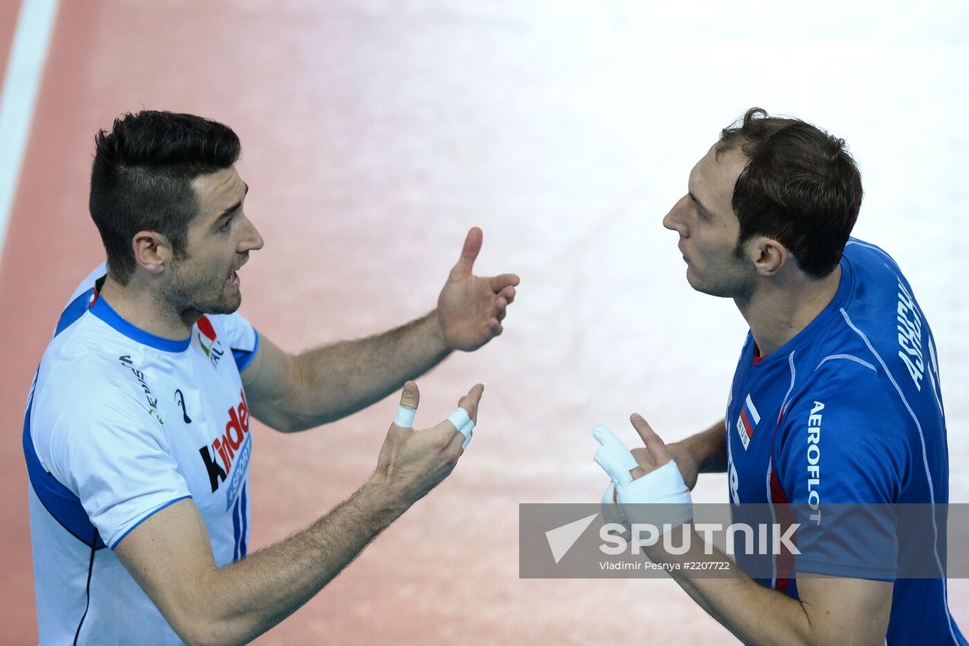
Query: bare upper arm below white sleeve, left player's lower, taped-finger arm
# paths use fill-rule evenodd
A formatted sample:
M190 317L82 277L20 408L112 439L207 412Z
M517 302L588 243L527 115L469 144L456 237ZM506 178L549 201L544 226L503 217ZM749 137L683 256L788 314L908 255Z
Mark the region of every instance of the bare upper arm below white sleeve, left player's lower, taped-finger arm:
M206 577L216 572L205 523L195 502L173 502L153 513L113 548L114 555L189 643L208 628L201 612Z

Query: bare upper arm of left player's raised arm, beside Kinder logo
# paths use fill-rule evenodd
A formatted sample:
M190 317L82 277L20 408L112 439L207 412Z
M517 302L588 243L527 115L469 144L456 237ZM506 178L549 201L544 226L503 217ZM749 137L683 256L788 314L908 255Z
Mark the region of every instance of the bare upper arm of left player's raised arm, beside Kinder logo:
M241 372L249 410L259 421L277 431L293 429L287 404L297 391L299 371L294 355L261 336L256 353Z

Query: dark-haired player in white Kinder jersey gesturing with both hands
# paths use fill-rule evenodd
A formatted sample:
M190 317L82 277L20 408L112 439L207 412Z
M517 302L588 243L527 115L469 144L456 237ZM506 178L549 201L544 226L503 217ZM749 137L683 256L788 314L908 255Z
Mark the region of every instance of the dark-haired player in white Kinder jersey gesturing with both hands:
M248 641L444 479L473 429L482 385L453 421L416 431L408 379L501 334L518 278L472 275L481 231L426 316L290 355L235 313L237 271L263 246L238 155L230 128L190 114L127 114L97 138L90 210L107 267L61 316L24 417L42 644ZM373 475L247 554L251 418L308 429L401 384Z

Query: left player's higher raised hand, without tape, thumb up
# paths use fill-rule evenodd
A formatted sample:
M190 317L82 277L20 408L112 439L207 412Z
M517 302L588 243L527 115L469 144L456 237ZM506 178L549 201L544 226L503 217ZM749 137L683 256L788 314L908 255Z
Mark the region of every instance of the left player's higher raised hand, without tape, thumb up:
M471 273L482 248L483 234L473 227L461 257L437 299L437 318L445 343L454 350L477 350L502 333L502 320L515 301L519 278L514 274L490 277Z

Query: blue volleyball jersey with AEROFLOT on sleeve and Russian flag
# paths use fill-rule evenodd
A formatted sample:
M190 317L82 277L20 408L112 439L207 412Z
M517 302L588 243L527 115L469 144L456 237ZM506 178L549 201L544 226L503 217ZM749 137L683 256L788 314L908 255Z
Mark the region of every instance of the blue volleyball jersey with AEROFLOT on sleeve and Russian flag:
M946 580L895 578L885 560L891 550L922 549L941 570L944 514L918 546L886 514L833 522L840 503L949 502L937 353L912 287L866 242L848 242L840 266L834 299L794 339L760 357L747 335L725 418L734 520L744 514L739 504L769 505L781 525L793 520L786 503L802 510L800 554L767 556L762 584L797 598L797 571L894 579L888 643L965 644ZM758 557L736 558L747 567Z

